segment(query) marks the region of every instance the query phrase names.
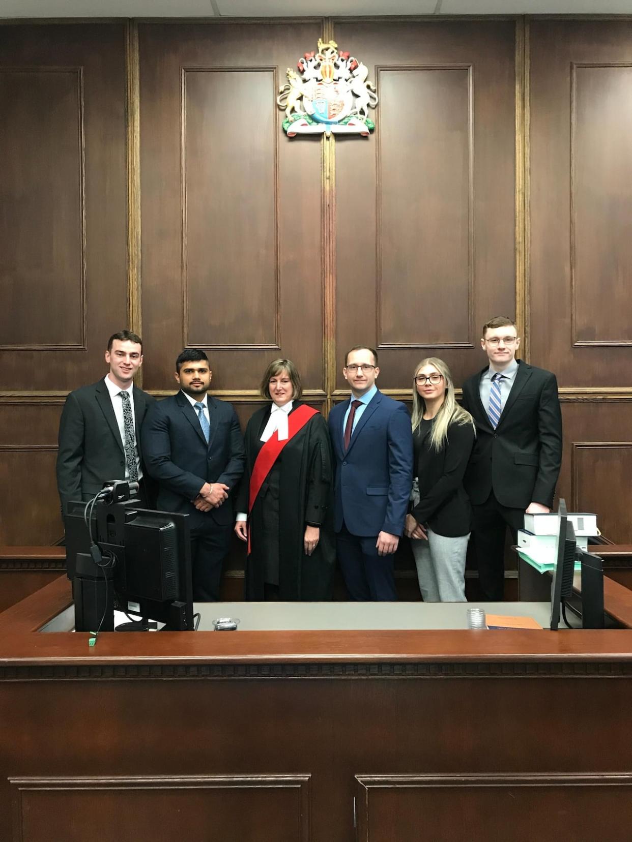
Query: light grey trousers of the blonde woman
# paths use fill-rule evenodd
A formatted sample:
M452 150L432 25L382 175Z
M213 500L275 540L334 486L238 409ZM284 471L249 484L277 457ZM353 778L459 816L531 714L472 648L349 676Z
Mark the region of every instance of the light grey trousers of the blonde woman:
M410 499L419 502L417 483ZM457 538L437 535L426 528L428 540L411 538L419 588L424 602L467 602L465 599L465 555L469 533Z

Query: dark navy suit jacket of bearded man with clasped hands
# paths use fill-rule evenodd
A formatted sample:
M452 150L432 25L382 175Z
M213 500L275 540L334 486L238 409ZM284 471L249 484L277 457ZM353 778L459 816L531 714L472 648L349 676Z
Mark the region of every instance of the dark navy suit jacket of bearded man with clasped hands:
M157 401L142 424L142 453L158 481L158 510L191 515L191 525L212 517L233 521L233 491L244 473L244 437L230 403L208 396L208 445L195 409L182 392ZM230 492L219 509L200 512L191 503L205 482L223 482Z

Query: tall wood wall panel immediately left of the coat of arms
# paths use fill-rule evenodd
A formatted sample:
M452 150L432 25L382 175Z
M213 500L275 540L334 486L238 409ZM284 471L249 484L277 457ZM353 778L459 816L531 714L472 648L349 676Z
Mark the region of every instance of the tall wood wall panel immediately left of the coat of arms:
M169 386L175 355L194 340L229 346L212 351L217 389L256 390L260 371L281 355L297 364L305 386L324 387L320 143L283 135L270 83L276 73L281 84L286 68L315 47L321 34L315 21L140 26L142 306L150 388ZM210 164L200 169L187 163L187 185L201 177L195 213L187 210L187 230L199 232L189 335L181 265L181 67L187 68L187 85L195 75L208 94L200 90L190 118L202 144L194 159L201 163L206 155L219 166L212 192L203 189ZM195 72L202 70L212 72ZM210 77L223 81L211 85ZM281 350L230 348L270 340L274 345L276 331Z

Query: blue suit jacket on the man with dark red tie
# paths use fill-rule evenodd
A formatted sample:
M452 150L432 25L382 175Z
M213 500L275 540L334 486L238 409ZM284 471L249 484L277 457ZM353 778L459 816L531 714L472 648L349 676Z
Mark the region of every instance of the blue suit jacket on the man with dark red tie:
M335 456L335 530L343 520L352 535L400 536L413 482L413 435L403 403L376 392L362 413L345 452L342 422L349 407L329 413Z

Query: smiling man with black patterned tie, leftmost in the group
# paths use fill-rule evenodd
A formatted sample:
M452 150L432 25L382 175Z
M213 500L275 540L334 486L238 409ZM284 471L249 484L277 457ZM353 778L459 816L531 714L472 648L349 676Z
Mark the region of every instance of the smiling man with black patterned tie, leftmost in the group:
M108 341L108 374L71 392L59 424L57 489L62 514L71 500L89 500L110 479L139 482L147 503L140 456L140 431L151 395L133 384L142 365L142 339L121 330Z

